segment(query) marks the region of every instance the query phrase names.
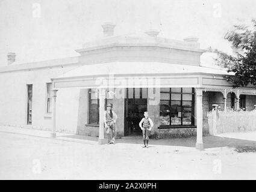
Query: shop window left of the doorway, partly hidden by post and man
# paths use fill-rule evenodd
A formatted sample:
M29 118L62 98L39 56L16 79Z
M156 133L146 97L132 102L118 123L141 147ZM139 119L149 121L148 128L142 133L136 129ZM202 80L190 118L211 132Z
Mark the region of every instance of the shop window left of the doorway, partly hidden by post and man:
M105 95L105 108L107 103L113 103L113 95L110 94L108 89ZM98 89L89 89L89 124L99 124L99 92Z

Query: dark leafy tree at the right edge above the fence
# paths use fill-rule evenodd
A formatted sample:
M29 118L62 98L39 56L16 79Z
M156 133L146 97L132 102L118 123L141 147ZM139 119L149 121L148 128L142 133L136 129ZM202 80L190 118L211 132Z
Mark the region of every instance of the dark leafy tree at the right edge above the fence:
M253 85L256 88L256 19L252 19L252 26L235 25L224 38L240 50L234 55L216 50L216 64L234 73L226 76L226 80L234 87Z

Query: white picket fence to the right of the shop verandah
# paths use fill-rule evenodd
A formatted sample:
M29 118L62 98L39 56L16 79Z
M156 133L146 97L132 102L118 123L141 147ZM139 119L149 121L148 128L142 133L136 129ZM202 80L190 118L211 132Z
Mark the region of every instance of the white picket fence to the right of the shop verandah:
M256 131L256 110L203 113L203 134Z

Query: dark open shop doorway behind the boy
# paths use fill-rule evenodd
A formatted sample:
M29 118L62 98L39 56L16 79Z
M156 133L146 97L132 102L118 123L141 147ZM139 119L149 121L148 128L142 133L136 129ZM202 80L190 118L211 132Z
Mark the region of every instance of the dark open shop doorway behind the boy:
M147 88L126 89L125 98L125 136L137 136L142 134L139 127L140 120L144 117L148 102Z

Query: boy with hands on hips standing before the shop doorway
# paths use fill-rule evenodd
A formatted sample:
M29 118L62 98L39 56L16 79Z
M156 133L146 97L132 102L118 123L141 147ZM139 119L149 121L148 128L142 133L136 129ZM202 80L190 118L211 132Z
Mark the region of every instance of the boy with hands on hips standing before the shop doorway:
M142 133L143 133L144 145L142 147L148 148L148 140L149 140L148 131L151 131L154 124L153 124L151 118L148 117L148 112L144 112L144 116L145 116L145 118L142 118L142 121L140 121L139 125L140 125L140 128L142 129Z

